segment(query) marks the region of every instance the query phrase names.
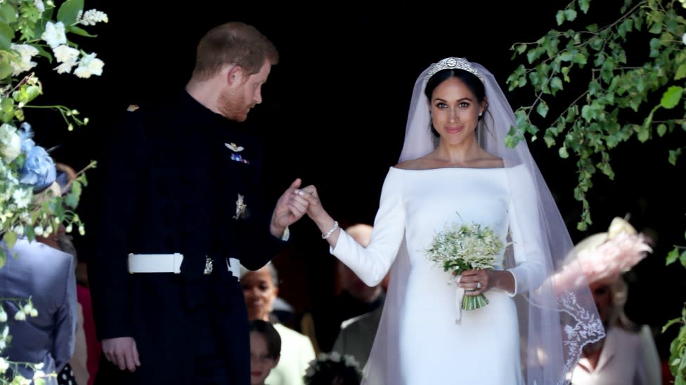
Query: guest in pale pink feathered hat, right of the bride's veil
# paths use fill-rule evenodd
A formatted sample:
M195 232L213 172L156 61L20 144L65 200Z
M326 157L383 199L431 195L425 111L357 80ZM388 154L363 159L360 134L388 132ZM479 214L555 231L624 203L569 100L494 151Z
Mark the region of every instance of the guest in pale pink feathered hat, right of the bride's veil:
M626 273L647 252L650 239L626 219L612 219L607 232L588 236L574 248L607 336L585 346L571 377L573 385L660 385L661 363L648 325L636 325L624 313Z

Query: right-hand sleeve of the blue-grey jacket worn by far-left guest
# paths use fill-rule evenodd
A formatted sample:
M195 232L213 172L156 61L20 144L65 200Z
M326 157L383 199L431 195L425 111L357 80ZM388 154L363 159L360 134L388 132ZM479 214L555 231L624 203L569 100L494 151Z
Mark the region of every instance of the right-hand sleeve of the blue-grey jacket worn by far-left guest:
M57 372L62 370L72 358L76 339L76 266L74 265L74 258L70 258L69 261L67 271L65 271L63 303L55 314L55 339L53 339L52 355L55 358Z

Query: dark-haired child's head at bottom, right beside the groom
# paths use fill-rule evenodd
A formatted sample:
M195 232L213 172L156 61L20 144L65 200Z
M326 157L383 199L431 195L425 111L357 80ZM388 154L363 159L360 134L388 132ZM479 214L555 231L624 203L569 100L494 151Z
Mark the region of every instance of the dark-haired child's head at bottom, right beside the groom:
M250 385L263 385L281 357L281 337L265 320L250 321Z

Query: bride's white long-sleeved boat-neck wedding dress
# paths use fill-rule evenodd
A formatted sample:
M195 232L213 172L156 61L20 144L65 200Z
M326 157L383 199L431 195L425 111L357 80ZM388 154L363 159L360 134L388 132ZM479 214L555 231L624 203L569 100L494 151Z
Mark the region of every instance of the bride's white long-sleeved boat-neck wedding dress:
M390 168L370 245L362 248L341 232L336 247L330 251L368 285L384 278L405 246L408 255L408 261L398 261L408 263L407 276L399 280L402 282L393 282L399 278L391 271L387 305L384 305L387 313L391 304L397 304L394 313L384 314L395 326L380 327L368 364L372 367L366 368L363 383L524 384L513 296L536 289L545 278L536 252L538 240L526 238L526 222L536 220L537 216L527 218L522 213L523 219L514 221L517 213L510 204L512 197L507 188L508 178L529 177L525 170L519 166ZM515 174L508 176L508 173ZM527 199L535 205L533 189L531 194ZM491 225L503 242L510 231L514 248L515 266L510 269L516 281L514 293L487 290L484 295L490 302L488 305L473 311L462 310L460 314L460 290L456 285L448 285L449 273L429 262L425 253L435 234L451 222ZM404 245L403 241L406 241ZM503 256L493 267L503 269ZM459 324L456 318L460 318ZM375 355L384 354L387 356L377 361L378 367L373 367Z

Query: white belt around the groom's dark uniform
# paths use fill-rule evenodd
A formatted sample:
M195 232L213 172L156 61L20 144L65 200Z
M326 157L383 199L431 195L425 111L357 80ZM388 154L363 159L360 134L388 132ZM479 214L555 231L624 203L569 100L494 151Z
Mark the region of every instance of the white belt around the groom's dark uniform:
M129 273L181 273L183 254L129 254ZM226 259L226 269L240 278L240 262L237 258ZM212 259L205 261L205 274L212 272Z

